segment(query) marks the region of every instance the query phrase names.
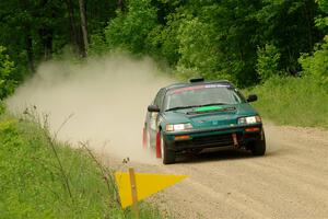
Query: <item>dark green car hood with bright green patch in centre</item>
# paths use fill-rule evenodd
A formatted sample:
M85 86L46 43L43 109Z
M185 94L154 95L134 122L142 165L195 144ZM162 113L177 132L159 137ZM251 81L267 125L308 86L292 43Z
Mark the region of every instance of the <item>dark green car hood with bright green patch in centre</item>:
M165 124L191 123L196 127L236 125L237 118L258 113L248 104L220 105L216 107L194 107L163 113Z

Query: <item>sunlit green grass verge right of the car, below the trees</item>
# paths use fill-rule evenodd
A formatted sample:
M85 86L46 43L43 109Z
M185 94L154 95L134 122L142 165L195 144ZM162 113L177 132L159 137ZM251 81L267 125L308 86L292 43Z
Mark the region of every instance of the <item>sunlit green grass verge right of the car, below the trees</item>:
M280 125L328 128L328 91L306 78L271 78L245 93L256 93L254 106Z

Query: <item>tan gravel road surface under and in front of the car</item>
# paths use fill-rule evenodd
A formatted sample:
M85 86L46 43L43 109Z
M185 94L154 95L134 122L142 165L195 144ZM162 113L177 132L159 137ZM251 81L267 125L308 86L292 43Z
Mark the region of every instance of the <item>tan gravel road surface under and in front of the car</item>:
M212 151L139 172L188 178L153 197L175 218L328 218L328 131L266 125L267 154Z

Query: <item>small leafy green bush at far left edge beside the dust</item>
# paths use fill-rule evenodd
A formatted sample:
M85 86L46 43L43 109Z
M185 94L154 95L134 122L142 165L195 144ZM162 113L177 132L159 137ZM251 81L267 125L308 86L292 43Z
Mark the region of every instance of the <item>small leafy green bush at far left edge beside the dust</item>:
M10 60L3 46L0 46L0 100L10 95L15 87L15 81L13 80L13 73L15 72L14 62Z

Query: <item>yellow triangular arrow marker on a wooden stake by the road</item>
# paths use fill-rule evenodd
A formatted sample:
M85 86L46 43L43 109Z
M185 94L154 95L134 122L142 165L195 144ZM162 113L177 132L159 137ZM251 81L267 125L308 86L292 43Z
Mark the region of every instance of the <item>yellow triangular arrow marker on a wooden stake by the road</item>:
M136 173L137 196L141 200L159 191L162 191L186 178L186 175L163 175L150 173ZM132 205L130 175L126 172L115 173L120 204L122 208Z

